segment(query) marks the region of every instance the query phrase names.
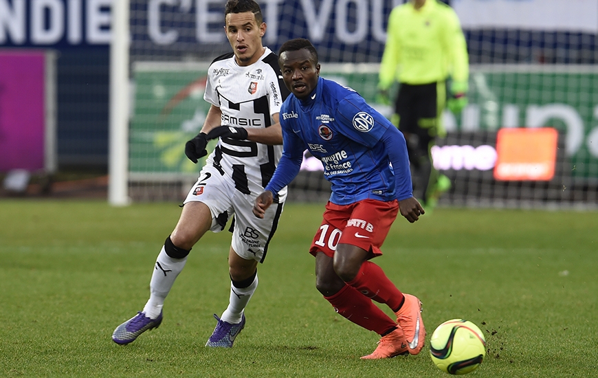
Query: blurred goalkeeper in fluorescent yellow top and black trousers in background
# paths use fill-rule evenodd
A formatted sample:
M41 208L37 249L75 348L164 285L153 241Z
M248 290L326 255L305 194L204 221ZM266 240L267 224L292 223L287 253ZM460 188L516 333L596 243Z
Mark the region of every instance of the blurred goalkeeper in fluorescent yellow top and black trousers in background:
M451 185L434 169L430 149L436 137L446 134L441 123L445 106L460 114L467 105L468 60L461 25L448 5L410 0L390 12L379 73L380 100L389 102L388 91L397 78L392 123L407 140L414 196L428 210Z

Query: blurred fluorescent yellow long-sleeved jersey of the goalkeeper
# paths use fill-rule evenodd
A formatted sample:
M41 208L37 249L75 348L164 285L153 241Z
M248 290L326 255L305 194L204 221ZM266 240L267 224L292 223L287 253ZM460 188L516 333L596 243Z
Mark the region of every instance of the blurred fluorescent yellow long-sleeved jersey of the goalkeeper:
M409 1L390 12L378 87L390 88L395 78L419 85L451 76L453 87L460 87L456 91L467 91L468 60L454 10L436 0L427 0L415 10Z

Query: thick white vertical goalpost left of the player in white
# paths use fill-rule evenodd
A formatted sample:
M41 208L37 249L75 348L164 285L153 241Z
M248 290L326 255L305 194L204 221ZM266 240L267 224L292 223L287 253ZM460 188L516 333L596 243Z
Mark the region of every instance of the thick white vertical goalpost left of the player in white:
M129 204L129 0L112 0L108 201Z

